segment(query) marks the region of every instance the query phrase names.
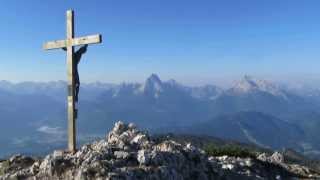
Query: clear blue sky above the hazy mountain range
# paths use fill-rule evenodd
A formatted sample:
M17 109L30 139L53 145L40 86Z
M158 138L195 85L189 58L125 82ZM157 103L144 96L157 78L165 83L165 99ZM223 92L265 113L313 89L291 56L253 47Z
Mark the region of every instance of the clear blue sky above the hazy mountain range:
M227 82L244 74L267 79L320 75L317 0L3 0L0 79L66 79L65 11L76 36L101 33L89 46L82 81L143 81L155 72L186 84ZM319 76L320 77L320 76Z

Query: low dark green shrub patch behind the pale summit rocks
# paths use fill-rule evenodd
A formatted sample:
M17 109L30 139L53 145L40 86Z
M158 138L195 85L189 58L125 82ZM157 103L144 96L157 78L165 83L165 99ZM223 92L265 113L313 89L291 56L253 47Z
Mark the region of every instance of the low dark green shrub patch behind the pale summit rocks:
M251 157L255 158L255 152L251 152L246 148L241 148L239 146L234 145L225 145L225 146L216 146L214 144L208 144L204 147L205 152L209 156L234 156L234 157Z

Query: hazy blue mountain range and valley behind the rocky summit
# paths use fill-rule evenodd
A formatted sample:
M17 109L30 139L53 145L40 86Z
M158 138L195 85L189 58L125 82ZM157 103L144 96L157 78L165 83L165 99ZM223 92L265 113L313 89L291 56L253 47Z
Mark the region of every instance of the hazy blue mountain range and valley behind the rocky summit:
M250 76L227 89L190 87L156 74L144 83L82 84L79 142L101 137L105 127L123 120L157 133L217 136L318 157L320 91L303 92ZM0 81L0 156L63 147L65 99L64 81Z

